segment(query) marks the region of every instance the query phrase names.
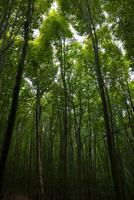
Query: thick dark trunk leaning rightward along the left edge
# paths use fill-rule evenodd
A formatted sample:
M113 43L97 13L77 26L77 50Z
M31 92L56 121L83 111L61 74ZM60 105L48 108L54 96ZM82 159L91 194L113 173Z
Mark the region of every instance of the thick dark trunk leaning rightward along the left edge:
M12 94L12 103L11 103L11 108L9 111L7 128L4 133L4 143L3 143L1 157L0 157L0 192L1 192L2 186L3 186L3 175L4 175L5 165L6 165L9 148L10 148L10 144L11 144L11 139L12 139L12 135L13 135L16 111L17 111L17 107L18 107L20 85L21 85L21 79L22 79L22 74L23 74L23 70L24 70L24 63L25 63L27 47L28 47L29 31L30 31L32 13L33 13L33 8L34 8L33 0L28 0L27 7L28 7L28 9L27 9L26 21L24 24L24 43L23 43L23 47L22 47L21 57L20 57L19 64L18 64L16 81L15 81L13 94Z

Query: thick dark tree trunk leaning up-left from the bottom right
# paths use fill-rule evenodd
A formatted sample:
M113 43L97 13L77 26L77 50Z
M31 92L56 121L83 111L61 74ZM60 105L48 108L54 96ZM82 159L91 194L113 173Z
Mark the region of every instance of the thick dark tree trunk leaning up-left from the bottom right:
M108 148L108 155L112 172L113 185L116 193L116 200L128 200L129 197L127 196L128 194L126 194L126 184L124 180L125 176L124 168L122 166L121 158L117 155L115 149L114 128L111 119L112 113L110 113L109 100L107 99L107 94L105 90L106 86L104 84L104 79L102 77L100 60L99 60L98 38L95 30L95 25L91 16L89 1L85 0L82 3L82 7L84 15L86 15L85 22L88 25L89 29L88 31L92 40L92 46L94 50L95 72L103 107L103 115L104 115L104 122L106 128L106 136L107 136L107 148Z

